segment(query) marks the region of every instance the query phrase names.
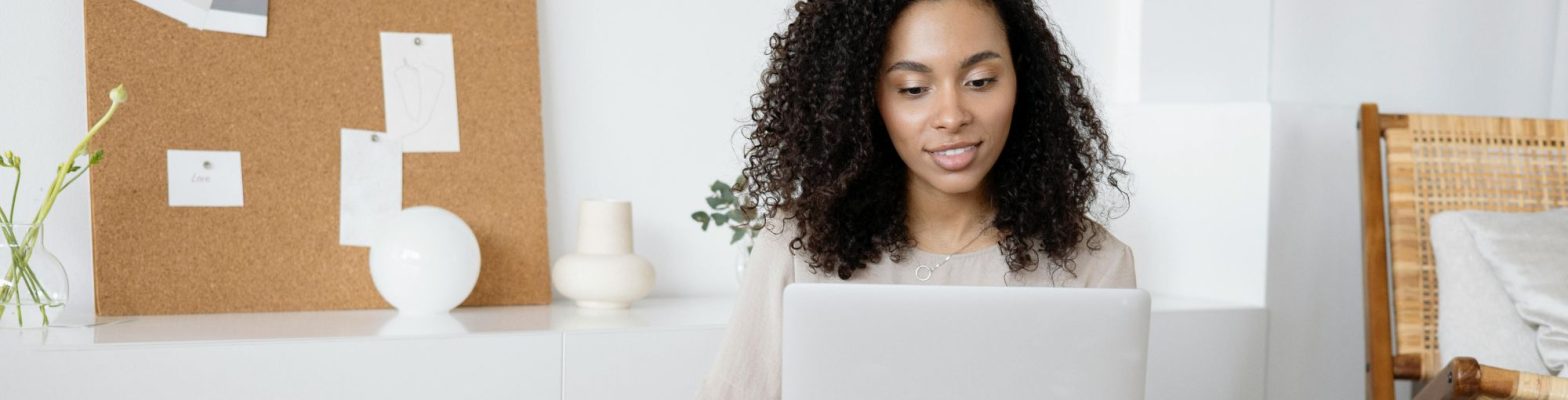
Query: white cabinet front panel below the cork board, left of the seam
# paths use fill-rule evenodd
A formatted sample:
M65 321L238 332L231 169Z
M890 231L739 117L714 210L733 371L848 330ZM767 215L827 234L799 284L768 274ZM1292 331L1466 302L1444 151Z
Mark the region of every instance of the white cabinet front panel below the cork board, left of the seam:
M0 353L3 398L560 398L550 334Z

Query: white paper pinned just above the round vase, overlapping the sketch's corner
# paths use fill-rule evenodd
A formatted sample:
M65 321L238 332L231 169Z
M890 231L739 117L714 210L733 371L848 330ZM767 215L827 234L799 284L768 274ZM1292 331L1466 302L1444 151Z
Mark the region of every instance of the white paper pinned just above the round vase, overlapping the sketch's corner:
M403 209L403 144L381 132L343 129L342 163L337 243L370 246Z

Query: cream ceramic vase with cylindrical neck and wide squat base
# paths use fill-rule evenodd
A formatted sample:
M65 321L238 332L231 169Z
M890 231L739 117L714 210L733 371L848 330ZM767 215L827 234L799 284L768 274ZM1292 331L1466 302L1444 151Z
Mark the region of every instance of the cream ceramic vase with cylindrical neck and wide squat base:
M654 265L632 254L632 202L579 205L577 253L555 260L555 290L588 309L624 309L654 290Z

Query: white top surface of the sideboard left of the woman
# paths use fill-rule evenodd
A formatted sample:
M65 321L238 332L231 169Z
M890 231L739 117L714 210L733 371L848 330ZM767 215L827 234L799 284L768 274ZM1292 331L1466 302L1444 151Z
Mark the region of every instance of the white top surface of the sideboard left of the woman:
M723 328L732 298L649 298L627 311L550 306L459 307L450 315L392 309L99 317L93 326L0 331L0 350L93 350L290 340L441 339L607 329Z

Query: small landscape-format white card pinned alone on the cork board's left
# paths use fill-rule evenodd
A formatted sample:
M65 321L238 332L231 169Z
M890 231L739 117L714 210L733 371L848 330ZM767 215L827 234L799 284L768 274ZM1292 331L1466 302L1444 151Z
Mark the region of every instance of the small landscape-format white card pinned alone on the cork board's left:
M245 207L240 152L169 151L169 207Z

